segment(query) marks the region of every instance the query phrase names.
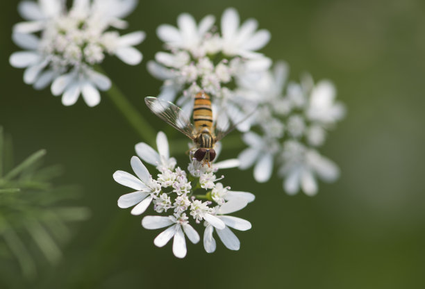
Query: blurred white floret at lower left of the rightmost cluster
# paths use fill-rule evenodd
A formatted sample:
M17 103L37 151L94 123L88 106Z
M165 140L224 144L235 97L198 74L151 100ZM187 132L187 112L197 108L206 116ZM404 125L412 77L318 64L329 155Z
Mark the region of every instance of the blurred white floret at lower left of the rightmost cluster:
M242 139L249 147L238 156L240 169L245 170L256 163L254 179L260 183L268 181L273 172L274 156L279 150L276 140L261 138L253 132L244 133Z

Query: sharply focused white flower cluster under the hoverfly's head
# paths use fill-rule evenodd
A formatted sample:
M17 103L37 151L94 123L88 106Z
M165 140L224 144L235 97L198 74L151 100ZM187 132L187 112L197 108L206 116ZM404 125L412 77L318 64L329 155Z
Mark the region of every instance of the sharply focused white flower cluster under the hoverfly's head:
M142 220L145 229L165 228L153 243L163 247L173 240L173 253L178 258L185 257L187 253L185 236L193 242L200 240L199 234L190 224L203 222L203 246L208 253L216 249L213 231L217 232L219 239L231 250L240 249L240 241L229 228L240 231L251 229L251 223L239 217L227 214L238 211L251 201L254 196L249 192L231 191L218 181L215 173L219 168L229 167L229 163L238 165L234 160L203 166L197 160L191 160L187 174L180 167L176 167L176 160L169 157L167 137L158 133L156 139L158 152L149 145L141 142L135 146L136 153L145 163L155 165L158 170L154 179L137 156L131 158L131 167L137 176L127 172L117 171L113 177L117 183L132 188L135 192L122 195L118 199L120 208L129 208L133 215L144 213L150 204L156 213L166 215L148 215ZM203 192L194 195L194 192Z

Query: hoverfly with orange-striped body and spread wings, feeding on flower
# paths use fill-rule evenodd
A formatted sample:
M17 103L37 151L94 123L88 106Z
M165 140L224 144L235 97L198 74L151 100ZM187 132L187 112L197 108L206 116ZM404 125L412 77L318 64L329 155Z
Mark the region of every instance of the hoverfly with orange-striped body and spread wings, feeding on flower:
M194 158L203 165L210 166L215 158L215 143L230 133L240 122L247 119L244 117L232 126L228 122L220 121L213 124L213 109L211 100L205 92L199 92L194 98L193 124L185 112L170 101L157 99L156 97L145 97L144 101L152 112L163 119L167 124L174 127L188 138L192 139L196 146Z

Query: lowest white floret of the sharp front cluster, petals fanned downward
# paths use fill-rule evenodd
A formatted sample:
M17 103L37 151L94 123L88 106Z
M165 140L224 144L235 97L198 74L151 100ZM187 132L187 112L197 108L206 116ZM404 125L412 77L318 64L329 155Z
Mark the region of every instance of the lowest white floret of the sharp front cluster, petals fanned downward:
M171 226L170 226L171 225ZM153 243L157 247L164 247L171 238L173 240L173 253L177 258L184 258L188 250L186 249L185 234L190 242L196 244L199 242L199 234L188 222L185 213L174 214L174 216L146 216L142 220L144 229L160 229L169 226L163 233L160 233ZM183 233L184 232L184 233Z

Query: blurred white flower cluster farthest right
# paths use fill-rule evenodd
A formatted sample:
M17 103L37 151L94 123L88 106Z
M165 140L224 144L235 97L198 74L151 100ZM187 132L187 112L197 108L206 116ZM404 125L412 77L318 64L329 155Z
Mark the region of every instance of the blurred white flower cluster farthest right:
M339 176L335 163L321 156L317 147L324 143L326 131L344 117L345 108L335 101L330 81L314 84L308 75L301 83L289 83L284 92L287 74L287 65L277 63L273 71L240 83L240 90L258 99L254 122L260 129L260 135L252 131L243 135L249 147L238 157L240 168L255 164L254 178L265 182L276 161L288 194L301 188L307 195L315 195L316 176L323 181L335 181Z

